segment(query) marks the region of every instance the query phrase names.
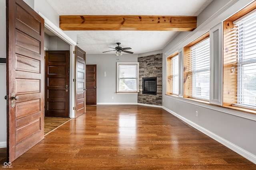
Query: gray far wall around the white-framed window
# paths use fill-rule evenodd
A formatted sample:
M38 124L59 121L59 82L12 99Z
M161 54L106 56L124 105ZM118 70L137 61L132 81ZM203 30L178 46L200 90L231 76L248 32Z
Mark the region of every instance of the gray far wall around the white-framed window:
M137 104L137 93L116 93L116 62L137 62L137 58L138 55L124 54L117 61L115 54L86 55L86 64L97 65L97 104Z

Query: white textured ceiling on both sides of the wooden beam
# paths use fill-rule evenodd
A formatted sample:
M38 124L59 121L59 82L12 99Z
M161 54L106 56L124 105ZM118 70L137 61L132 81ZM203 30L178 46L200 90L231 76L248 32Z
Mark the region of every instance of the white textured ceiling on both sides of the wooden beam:
M212 0L46 0L59 15L198 16ZM131 47L134 54L163 49L177 31L77 31L87 54L114 54L108 47Z

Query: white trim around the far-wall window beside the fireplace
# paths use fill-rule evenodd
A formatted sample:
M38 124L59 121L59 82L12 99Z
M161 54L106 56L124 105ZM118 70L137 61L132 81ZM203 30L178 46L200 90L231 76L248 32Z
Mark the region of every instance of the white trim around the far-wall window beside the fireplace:
M136 65L137 91L119 91L119 64ZM139 62L116 62L116 92L118 94L138 94L139 92Z

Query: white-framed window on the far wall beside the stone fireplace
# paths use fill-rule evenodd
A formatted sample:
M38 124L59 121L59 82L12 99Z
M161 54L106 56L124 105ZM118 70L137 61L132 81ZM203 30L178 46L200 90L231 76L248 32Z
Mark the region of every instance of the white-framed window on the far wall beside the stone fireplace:
M138 92L139 63L117 62L117 92Z

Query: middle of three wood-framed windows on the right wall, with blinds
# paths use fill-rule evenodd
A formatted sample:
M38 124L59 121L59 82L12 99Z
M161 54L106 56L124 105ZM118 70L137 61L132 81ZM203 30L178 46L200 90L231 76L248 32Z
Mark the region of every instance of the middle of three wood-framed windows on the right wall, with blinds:
M184 98L209 101L210 96L210 32L183 48Z

